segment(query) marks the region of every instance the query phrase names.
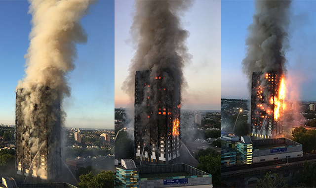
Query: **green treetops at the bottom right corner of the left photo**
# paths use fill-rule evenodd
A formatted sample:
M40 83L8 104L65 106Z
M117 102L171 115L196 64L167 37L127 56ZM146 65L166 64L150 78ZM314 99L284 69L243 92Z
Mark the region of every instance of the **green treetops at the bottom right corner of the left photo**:
M92 172L80 175L79 188L114 188L114 173L112 171L101 171L94 176Z

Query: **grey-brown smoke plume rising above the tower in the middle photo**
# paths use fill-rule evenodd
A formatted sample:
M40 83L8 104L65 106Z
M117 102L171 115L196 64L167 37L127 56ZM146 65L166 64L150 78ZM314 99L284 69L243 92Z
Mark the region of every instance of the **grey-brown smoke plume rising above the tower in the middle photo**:
M190 58L187 52L186 39L189 32L182 29L180 18L192 4L190 0L137 0L131 35L137 49L129 67L129 76L122 89L134 97L135 73L150 70L151 83L157 85L156 77L163 77L161 86L153 86L153 92L166 89L173 93L183 89L185 79L183 68ZM173 98L180 98L174 92ZM159 100L151 100L158 103ZM142 111L141 109L137 111ZM134 114L129 112L133 119Z

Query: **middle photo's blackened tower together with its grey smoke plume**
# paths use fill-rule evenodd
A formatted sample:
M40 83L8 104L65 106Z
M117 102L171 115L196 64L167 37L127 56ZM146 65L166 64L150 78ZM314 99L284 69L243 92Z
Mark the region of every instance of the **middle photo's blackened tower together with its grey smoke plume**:
M180 158L180 89L191 58L180 17L191 0L136 0L131 34L137 50L123 90L134 98L136 164L170 164Z

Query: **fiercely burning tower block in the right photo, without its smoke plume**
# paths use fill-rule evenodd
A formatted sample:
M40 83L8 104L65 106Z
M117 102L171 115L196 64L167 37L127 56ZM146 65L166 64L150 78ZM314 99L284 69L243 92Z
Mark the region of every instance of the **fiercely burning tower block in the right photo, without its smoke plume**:
M282 133L283 80L276 72L254 72L251 84L251 137L274 138Z

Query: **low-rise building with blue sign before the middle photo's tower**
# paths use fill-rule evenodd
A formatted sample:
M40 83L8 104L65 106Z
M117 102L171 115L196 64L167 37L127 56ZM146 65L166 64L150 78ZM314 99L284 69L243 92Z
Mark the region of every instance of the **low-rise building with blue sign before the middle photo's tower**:
M212 188L212 175L186 164L136 166L131 159L122 159L115 167L116 188Z

